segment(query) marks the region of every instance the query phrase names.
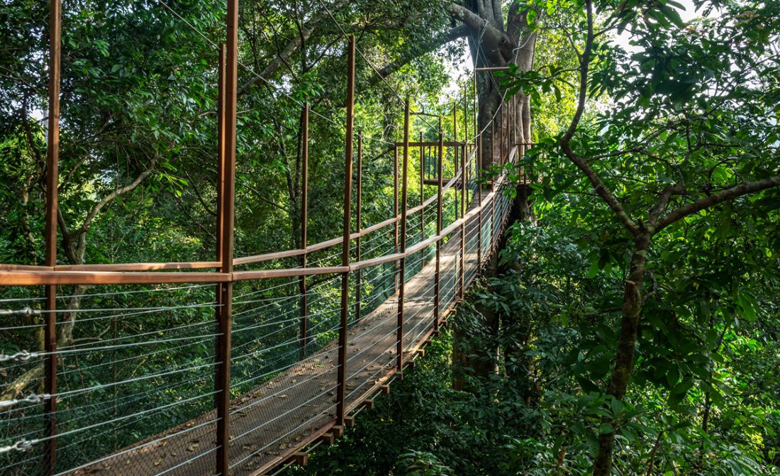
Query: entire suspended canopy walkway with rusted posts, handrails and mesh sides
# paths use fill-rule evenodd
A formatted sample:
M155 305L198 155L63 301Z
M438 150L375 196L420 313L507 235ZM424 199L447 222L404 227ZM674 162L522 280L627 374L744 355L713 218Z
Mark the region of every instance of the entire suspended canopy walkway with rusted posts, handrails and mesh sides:
M412 142L409 101L404 139L392 147L394 213L362 228L350 38L342 236L307 243L304 178L304 247L236 258L230 32L220 61L215 261L59 265L49 140L46 265L0 265L0 336L44 342L0 354L0 391L15 395L0 400L3 474L255 475L303 464L307 449L342 435L424 353L494 253L509 216L503 190L514 183L505 172L485 180L480 164L516 164L525 146L498 127L492 157L480 157L476 120L465 140L445 141L440 125L438 142ZM57 107L51 101L50 117ZM304 144L307 117L308 107ZM421 203L410 208L413 151ZM306 158L304 147L304 171Z

